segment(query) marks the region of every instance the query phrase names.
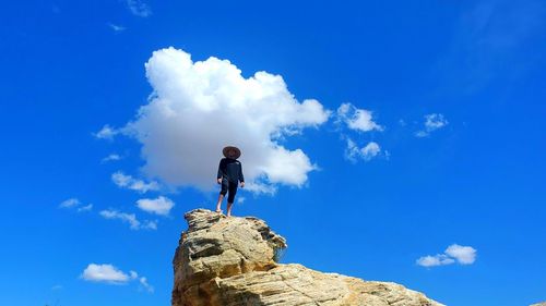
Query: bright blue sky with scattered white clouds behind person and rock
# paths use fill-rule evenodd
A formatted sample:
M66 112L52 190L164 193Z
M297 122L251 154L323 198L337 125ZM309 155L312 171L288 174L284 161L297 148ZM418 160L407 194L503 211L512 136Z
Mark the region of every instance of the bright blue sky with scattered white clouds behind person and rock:
M543 1L198 2L3 3L1 305L168 305L224 138L283 262L546 299Z

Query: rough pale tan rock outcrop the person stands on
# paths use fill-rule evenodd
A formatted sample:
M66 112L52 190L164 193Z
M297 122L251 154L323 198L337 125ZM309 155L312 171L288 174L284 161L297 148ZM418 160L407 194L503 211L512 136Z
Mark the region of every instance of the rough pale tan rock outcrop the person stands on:
M441 306L400 284L276 264L286 241L260 219L206 209L185 218L189 228L173 260L173 306Z

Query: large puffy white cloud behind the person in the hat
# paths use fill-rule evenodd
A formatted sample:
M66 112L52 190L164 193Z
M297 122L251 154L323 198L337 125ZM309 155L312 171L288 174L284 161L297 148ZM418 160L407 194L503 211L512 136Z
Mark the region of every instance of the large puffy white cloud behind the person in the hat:
M207 191L226 145L241 149L253 192L301 186L316 169L302 150L280 140L322 124L330 111L313 99L296 100L282 76L257 72L245 78L227 60L193 62L174 48L155 51L145 68L153 95L122 131L142 144L150 176Z

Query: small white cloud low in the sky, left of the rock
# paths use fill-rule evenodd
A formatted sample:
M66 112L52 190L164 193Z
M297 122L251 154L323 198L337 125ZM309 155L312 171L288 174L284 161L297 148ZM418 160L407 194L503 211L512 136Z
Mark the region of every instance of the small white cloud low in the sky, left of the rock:
M81 279L91 282L103 282L108 284L127 284L130 281L136 280L142 287L149 292L153 292L154 287L147 283L145 277L140 277L135 271L126 273L112 265L90 264L80 276Z

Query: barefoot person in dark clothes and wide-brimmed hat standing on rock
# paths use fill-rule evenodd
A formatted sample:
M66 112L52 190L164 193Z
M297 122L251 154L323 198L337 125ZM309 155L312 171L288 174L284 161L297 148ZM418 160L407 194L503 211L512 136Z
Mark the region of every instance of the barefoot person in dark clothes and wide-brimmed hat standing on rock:
M227 196L227 217L232 216L232 206L234 205L235 194L237 193L237 184L240 182L241 188L245 187L245 178L242 176L242 166L237 159L240 157L240 150L237 147L227 146L222 150L225 156L219 161L218 174L216 182L222 185L216 204L216 212L221 213L221 205L224 196Z

